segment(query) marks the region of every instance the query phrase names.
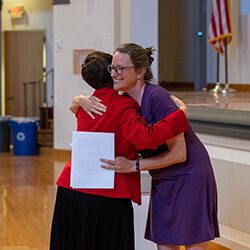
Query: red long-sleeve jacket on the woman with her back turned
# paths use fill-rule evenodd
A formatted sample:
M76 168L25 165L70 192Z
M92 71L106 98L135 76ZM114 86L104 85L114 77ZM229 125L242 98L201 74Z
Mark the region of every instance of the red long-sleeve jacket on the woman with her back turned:
M102 100L107 111L95 119L79 108L76 113L77 130L115 133L115 156L130 160L138 157L137 149L152 148L188 129L183 111L179 110L157 124L149 126L140 115L139 105L133 98L118 95L113 89L96 90L93 94ZM105 158L105 155L103 156ZM70 188L71 161L62 171L57 185ZM139 173L115 173L114 189L74 189L76 191L115 198L130 198L141 203Z

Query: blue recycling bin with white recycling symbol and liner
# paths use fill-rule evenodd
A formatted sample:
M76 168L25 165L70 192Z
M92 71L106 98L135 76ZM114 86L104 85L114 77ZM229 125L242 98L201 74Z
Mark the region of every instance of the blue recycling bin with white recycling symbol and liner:
M36 117L13 117L8 122L11 127L13 154L37 155L37 127L40 121Z

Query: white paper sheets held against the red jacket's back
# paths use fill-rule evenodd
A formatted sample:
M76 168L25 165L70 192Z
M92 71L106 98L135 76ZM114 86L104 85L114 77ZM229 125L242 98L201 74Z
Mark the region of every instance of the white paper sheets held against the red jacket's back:
M114 171L101 168L100 158L114 159L114 133L72 133L72 188L114 188Z

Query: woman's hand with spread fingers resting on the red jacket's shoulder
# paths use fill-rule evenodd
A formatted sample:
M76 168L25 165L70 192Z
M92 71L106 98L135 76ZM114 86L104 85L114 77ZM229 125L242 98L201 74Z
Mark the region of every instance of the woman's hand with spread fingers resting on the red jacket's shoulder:
M79 107L82 107L83 110L93 119L95 119L94 114L103 115L106 112L106 106L101 104L101 99L96 96L84 96L80 95L74 98L70 110L73 113L76 113Z

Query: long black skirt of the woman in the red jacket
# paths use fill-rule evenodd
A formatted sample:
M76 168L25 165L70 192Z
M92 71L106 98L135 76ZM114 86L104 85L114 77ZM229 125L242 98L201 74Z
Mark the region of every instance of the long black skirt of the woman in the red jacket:
M100 249L134 249L131 200L58 187L50 250Z

